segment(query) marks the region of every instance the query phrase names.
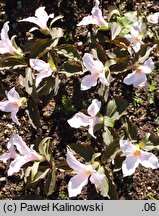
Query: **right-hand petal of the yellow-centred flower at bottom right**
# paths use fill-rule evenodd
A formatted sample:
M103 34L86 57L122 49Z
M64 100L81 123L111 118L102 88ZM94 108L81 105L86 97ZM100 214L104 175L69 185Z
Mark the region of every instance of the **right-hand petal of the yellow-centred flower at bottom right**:
M146 167L146 168L152 168L152 169L157 169L159 168L159 162L157 157L150 153L150 152L145 152L145 151L140 151L140 163Z

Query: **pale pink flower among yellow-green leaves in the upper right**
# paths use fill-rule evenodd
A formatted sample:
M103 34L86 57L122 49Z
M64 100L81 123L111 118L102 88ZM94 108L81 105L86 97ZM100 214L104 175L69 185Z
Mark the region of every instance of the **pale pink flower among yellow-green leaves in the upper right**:
M132 24L130 28L130 34L124 35L124 37L130 41L132 48L135 52L140 50L142 41L142 33L141 33L142 22L139 20Z

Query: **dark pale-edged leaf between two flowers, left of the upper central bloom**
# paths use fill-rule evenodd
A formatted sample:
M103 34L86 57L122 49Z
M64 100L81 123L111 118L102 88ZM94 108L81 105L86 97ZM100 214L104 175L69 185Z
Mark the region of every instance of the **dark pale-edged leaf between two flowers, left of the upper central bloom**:
M76 63L74 61L66 61L64 62L60 69L62 72L66 74L66 76L72 76L75 73L79 73L82 71L82 66L79 63Z

